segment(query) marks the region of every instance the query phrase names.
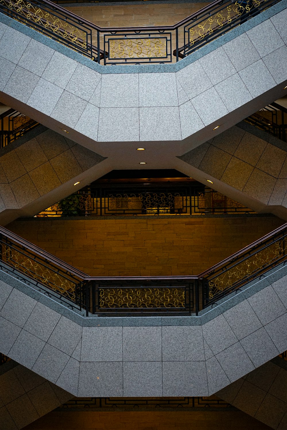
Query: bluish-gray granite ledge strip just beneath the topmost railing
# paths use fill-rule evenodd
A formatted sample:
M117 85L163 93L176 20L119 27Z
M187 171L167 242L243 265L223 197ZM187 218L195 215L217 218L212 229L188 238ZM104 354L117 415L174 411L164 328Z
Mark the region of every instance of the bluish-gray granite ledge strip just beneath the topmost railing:
M282 3L282 4L281 4ZM279 6L279 7L278 7ZM210 51L210 45L211 45L211 48L213 48L212 49L212 51L214 51L215 49L217 49L217 48L219 48L219 47L221 47L221 46L223 46L225 43L228 43L229 41L231 41L231 40L234 40L236 37L238 37L238 36L240 36L241 34L243 34L243 33L246 33L248 30L250 30L250 29L252 29L252 28L255 28L257 25L260 25L260 24L262 24L262 22L265 22L265 21L267 21L268 19L270 19L270 18L272 18L273 16L275 16L275 15L277 15L278 13L280 13L280 12L282 12L284 9L286 9L286 6L287 6L287 2L286 2L286 0L281 0L281 2L279 2L279 3L276 3L275 5L273 5L273 6L271 6L271 8L269 8L269 9L267 9L266 11L263 11L263 12L261 12L259 15L256 15L255 17L253 17L252 19L254 20L255 19L255 22L253 22L253 25L252 25L252 27L251 28L249 28L250 27L250 21L252 21L252 20L250 20L250 21L248 21L248 22L245 22L242 26L244 26L244 27L246 27L246 30L244 31L242 31L242 28L240 29L239 28L239 26L238 27L236 27L236 28L233 28L230 32L228 32L228 34L224 34L224 35L222 35L222 37L224 38L224 40L223 40L223 43L220 43L220 42L222 42L222 40L219 42L219 46L217 46L218 45L218 43L216 43L216 41L218 41L221 37L218 37L216 40L213 40L212 42L210 42L210 44L208 44L209 46L208 46L208 48L207 49L204 49L204 51L207 51L206 53L204 53L204 52L202 52L202 54L203 55L201 55L200 57L198 57L198 58L189 58L189 57L191 57L191 55L189 55L189 56L187 56L187 57L185 57L185 58L183 58L183 60L181 60L182 62L184 62L185 64L182 64L182 67L181 67L181 65L180 65L180 62L181 61L179 61L179 62L177 62L177 63L173 63L173 64L163 64L163 65L161 65L161 64L154 64L154 65L152 65L153 67L155 67L155 68L162 68L162 69L164 69L164 72L165 71L173 71L173 72L177 72L177 71L179 71L179 70L182 70L183 68L185 68L186 66L188 66L189 64L191 64L191 63L193 63L194 61L197 61L199 58L202 58L204 55L207 55L209 52L211 52ZM272 8L274 8L273 10L271 10L270 11L270 9L272 9ZM280 9L279 11L278 10L276 10L276 9ZM270 12L271 12L271 14L270 14ZM7 25L7 27L10 27L10 28L14 28L14 27L18 27L19 28L19 25L21 25L22 26L22 24L20 24L19 22L16 22L13 18L9 18L9 17L7 17L6 15L4 15L4 14L0 14L0 15L3 15L3 16L5 16L5 20L6 20L6 22L7 22L7 20L9 21L9 20L11 20L11 21L9 21L9 24L5 24L5 25ZM263 18L262 18L263 17ZM0 20L0 22L1 22L1 20ZM4 24L4 23L3 23ZM11 25L12 24L12 25ZM17 25L18 24L18 25ZM248 25L249 24L249 25ZM273 23L272 23L272 25L273 25ZM274 26L274 25L273 25ZM25 27L25 26L23 26L23 27ZM16 28L14 28L16 31L17 31L17 29ZM6 29L7 30L7 29ZM235 33L237 34L237 33L240 33L240 34L237 34L237 35L235 35L234 34L234 37L232 37L231 39L230 39L230 33L233 31L233 30L237 30L237 31L235 31ZM32 32L32 33L31 33ZM28 33L30 33L30 36L28 35ZM36 36L37 37L33 37L33 36L35 36L34 35L34 33L36 33ZM35 30L32 30L32 29L30 29L30 28L25 28L25 33L24 34L26 34L28 37L31 37L31 38L33 38L33 39L35 39L35 40L38 40L39 41L39 39L41 40L41 42L43 43L43 37L45 37L45 36L43 36L43 35L41 35L40 33L38 33L37 31L35 31ZM31 35L32 34L32 35ZM229 37L227 36L227 35L229 35ZM227 37L226 37L227 36ZM231 36L232 36L232 34L231 34ZM45 39L46 39L46 37L45 37ZM45 40L44 39L44 40ZM47 38L48 39L48 38ZM226 40L227 39L227 40ZM63 45L61 45L61 47L59 47L59 46L56 46L56 45L58 45L58 43L56 42L56 41L52 41L53 43L52 43L52 45L55 45L54 47L52 47L52 46L49 46L49 43L51 43L51 42L49 42L49 39L48 40L46 40L46 43L44 43L45 45L47 45L47 46L49 46L49 47L52 47L52 49L54 49L55 51L57 51L57 52L69 52L69 51L71 51L71 52L69 52L69 54L70 55L67 55L67 56L69 56L70 58L72 58L72 59L74 59L73 57L78 57L78 59L80 59L79 58L79 56L80 57L82 57L83 58L83 61L78 61L77 59L75 60L75 61L78 61L78 62L80 62L81 64L83 64L83 65L86 65L85 63L90 63L90 59L89 58L86 58L86 57L84 57L83 55L81 55L81 54L79 54L79 53L77 53L77 52L75 52L74 54L75 55L73 55L73 51L72 50L70 50L68 47L66 47L66 46L63 46ZM214 46L213 46L214 45ZM207 47L207 45L205 45L205 46L203 46L203 48L206 48ZM62 49L61 49L62 48ZM66 51L68 49L68 51ZM195 52L193 52L193 54L195 54ZM65 55L65 54L64 54ZM195 57L197 57L198 55L195 55ZM189 60L187 60L189 58ZM193 60L193 61L192 61ZM188 63L188 64L186 64L186 63ZM92 64L90 64L90 65L92 65ZM113 73L112 71L114 71L114 72L116 72L116 73L162 73L161 71L157 71L157 70L146 70L146 71L144 71L144 70L142 70L142 71L137 71L137 70L133 70L135 67L136 68L138 68L139 67L139 65L136 65L136 66L134 66L134 65L127 65L127 66L102 66L102 65L99 65L99 64L93 64L93 66L94 66L94 68L93 68L93 70L95 70L95 71L98 71L99 73L101 73L101 74L110 74L110 73ZM95 67L96 66L96 67ZM164 66L164 67L161 67L161 66ZM89 67L89 65L87 66L87 67ZM117 70L115 70L115 68L125 68L125 70L123 71L121 71L120 72L120 70L119 71L117 71ZM145 67L145 66L144 66ZM147 68L150 68L151 66L147 66ZM102 70L97 70L97 69L99 69L99 68L103 68ZM110 68L111 70L109 71L107 68ZM128 70L128 69L131 69L131 70ZM170 69L173 69L173 70L170 70ZM163 73L164 73L163 72Z

